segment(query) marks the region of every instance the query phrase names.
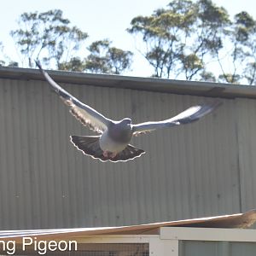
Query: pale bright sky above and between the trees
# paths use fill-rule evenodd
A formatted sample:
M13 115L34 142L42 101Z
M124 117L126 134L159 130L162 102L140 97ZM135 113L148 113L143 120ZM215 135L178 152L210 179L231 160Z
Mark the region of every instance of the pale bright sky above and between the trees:
M137 42L125 30L137 15L151 15L154 9L165 8L167 0L5 0L0 9L0 42L4 52L14 61L19 61L14 40L9 36L11 30L18 28L17 20L24 12L44 12L49 9L61 9L63 16L90 36L90 42L109 38L113 46L131 50L135 53L132 71L125 73L132 76L150 76L152 68L137 51ZM218 6L228 10L230 16L242 10L247 11L256 19L255 0L213 0Z

